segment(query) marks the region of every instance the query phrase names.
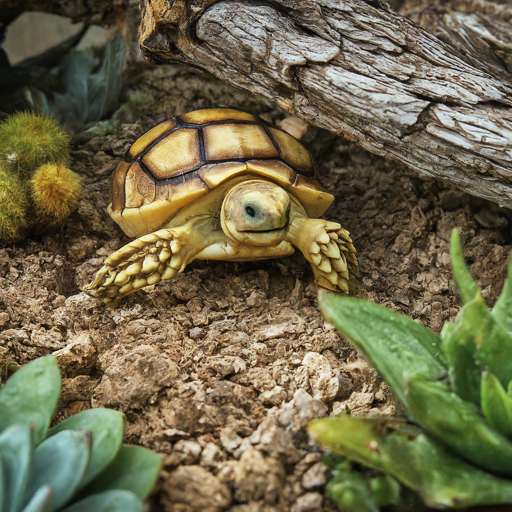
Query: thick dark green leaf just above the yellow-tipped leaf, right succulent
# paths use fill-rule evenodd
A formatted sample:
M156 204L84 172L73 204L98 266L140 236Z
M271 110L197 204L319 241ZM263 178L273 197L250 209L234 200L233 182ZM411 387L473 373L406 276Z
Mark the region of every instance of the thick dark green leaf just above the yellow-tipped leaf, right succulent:
M409 383L406 400L414 419L460 456L489 471L512 475L512 442L496 432L473 404L443 384L419 379Z

